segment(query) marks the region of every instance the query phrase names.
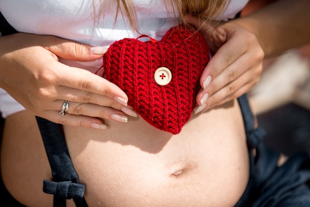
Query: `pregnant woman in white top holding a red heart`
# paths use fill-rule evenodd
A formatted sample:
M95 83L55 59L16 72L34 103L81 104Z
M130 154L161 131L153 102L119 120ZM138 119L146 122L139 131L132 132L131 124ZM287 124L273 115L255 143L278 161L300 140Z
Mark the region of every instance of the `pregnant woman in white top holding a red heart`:
M255 26L255 14L218 22L217 32L209 34L209 25L196 17L228 21L247 0L199 2L1 0L1 13L19 32L0 38L1 77L12 77L1 79L5 91L0 105L6 119L1 173L16 200L29 207L63 206L64 199L67 207L309 206L309 156L298 154L278 167L279 156L264 146L264 133L257 128L246 95L239 97L257 82L263 52L269 56L293 46L266 49L255 29L251 32L257 36L245 29ZM113 43L124 38L143 34L158 42L179 20L204 31L212 55L207 67L212 69L202 71L201 79L194 76L202 87L193 96L198 105L181 130L171 133L158 129L156 122L150 124L130 105L141 102L122 91L128 88L121 90L104 79L109 73L102 57L111 53L107 47L112 50ZM229 32L234 29L239 33ZM219 61L223 57L229 64ZM93 74L101 72L102 65L103 74ZM92 81L81 80L88 84L73 87L81 83L77 77ZM49 84L34 91L33 85L42 82ZM236 88L229 96L232 85ZM43 100L45 96L50 98ZM34 115L62 125L38 118L40 134ZM50 148L53 139L57 142ZM51 161L51 154L57 159ZM59 181L54 174L70 177L72 171L78 181Z

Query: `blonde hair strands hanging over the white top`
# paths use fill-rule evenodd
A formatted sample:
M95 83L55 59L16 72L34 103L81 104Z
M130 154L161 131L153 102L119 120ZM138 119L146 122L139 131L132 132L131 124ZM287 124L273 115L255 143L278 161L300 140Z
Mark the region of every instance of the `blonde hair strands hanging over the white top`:
M220 14L222 14L230 3L230 0L162 0L167 14L168 11L172 11L173 17L179 17L178 19L182 23L185 22L185 16L191 15L203 20L214 20ZM98 1L96 1L98 2ZM139 24L137 13L133 0L99 0L99 5L96 5L93 0L94 14L96 15L96 7L99 8L99 13L103 15L104 12L115 12L115 22L118 14L120 13L123 20L129 23L130 27L139 31ZM168 14L169 15L169 14ZM172 16L169 16L172 17ZM98 22L97 22L98 23Z

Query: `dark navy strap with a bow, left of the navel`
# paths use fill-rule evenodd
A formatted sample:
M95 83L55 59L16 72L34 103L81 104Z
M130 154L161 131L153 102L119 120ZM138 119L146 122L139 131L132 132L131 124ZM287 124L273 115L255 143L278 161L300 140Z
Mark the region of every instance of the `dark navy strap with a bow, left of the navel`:
M85 186L74 170L61 125L36 117L52 169L52 181L44 180L43 191L54 195L54 207L65 207L73 199L77 207L88 207L84 199Z

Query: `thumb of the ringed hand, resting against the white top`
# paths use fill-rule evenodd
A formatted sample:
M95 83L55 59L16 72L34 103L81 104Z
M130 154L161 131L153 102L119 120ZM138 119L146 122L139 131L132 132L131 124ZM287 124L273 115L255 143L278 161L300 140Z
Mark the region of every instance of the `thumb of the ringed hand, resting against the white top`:
M43 37L43 47L59 58L72 61L94 61L103 57L107 51L105 47L92 47L90 45L61 39L54 36Z

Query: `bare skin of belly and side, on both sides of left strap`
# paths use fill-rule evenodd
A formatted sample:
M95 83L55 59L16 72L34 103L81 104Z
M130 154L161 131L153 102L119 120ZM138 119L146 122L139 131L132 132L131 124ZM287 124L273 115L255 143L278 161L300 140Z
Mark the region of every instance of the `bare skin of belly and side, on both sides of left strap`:
M109 130L63 127L89 207L233 207L247 187L249 149L237 100L193 114L178 135L140 116L105 123ZM42 191L51 168L32 114L7 118L0 152L11 195L27 207L52 207L53 196Z

